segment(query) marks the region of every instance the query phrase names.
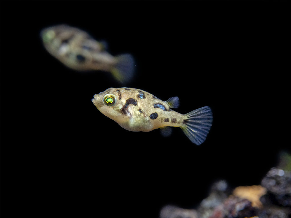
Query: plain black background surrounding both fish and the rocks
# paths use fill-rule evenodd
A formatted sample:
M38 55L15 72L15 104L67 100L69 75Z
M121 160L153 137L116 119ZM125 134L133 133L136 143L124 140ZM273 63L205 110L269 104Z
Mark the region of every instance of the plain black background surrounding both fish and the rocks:
M131 53L127 87L210 106L205 143L102 115L93 95L124 85L50 56L39 33L61 23ZM290 24L290 1L1 1L1 216L158 217L259 184L290 149Z

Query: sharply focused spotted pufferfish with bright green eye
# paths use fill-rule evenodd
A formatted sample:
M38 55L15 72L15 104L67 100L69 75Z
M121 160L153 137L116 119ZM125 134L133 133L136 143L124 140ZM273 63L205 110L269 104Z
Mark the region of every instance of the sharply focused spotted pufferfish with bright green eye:
M95 94L93 104L102 114L116 121L129 131L149 132L169 126L182 128L191 142L202 144L212 125L210 107L202 107L187 114L180 114L171 108L178 108L179 98L162 101L154 95L135 88L109 88Z

